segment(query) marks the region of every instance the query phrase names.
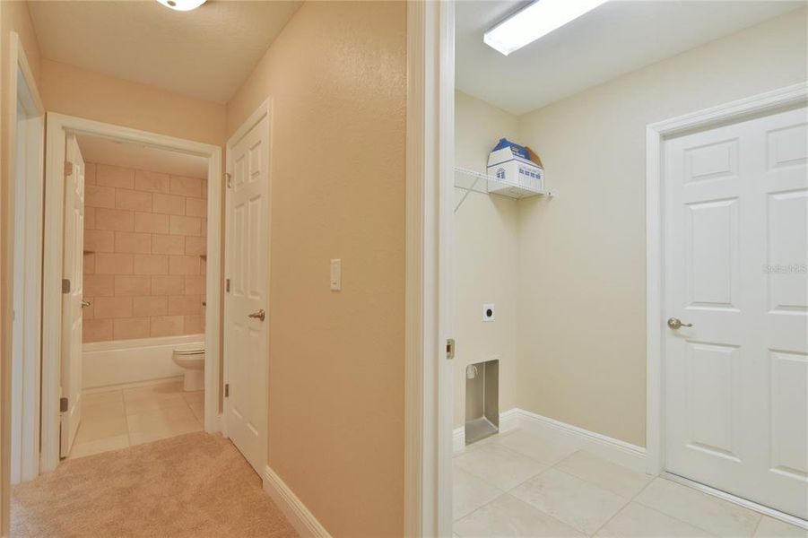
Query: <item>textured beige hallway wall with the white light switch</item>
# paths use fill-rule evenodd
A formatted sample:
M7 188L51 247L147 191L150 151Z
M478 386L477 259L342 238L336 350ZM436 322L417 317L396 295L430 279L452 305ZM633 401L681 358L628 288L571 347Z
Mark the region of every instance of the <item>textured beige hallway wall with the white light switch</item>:
M269 464L334 536L400 536L404 2L303 4L228 105L228 133L267 96Z

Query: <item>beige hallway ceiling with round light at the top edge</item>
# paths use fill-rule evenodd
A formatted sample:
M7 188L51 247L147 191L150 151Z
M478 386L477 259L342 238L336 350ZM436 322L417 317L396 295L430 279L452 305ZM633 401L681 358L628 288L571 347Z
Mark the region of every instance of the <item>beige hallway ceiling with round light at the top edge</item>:
M30 2L42 56L226 103L300 1L209 0L192 12L154 0Z

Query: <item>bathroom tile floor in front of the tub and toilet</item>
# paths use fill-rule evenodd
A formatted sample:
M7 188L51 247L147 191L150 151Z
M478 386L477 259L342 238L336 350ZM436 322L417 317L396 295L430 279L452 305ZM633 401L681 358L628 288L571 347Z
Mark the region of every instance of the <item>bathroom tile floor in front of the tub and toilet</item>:
M203 422L204 391L183 392L181 382L83 395L82 422L68 457L200 431Z

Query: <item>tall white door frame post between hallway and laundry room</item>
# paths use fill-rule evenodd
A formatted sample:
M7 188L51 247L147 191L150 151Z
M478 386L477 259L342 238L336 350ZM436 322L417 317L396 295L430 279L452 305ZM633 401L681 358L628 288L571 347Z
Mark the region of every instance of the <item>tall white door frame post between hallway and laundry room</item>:
M407 3L404 536L452 534L455 3Z

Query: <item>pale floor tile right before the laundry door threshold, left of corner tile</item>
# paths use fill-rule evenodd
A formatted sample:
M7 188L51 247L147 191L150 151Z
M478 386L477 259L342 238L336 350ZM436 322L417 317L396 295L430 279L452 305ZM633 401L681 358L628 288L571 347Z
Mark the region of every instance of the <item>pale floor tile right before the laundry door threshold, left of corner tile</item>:
M752 510L664 478L656 478L635 500L718 536L752 536L760 519Z

